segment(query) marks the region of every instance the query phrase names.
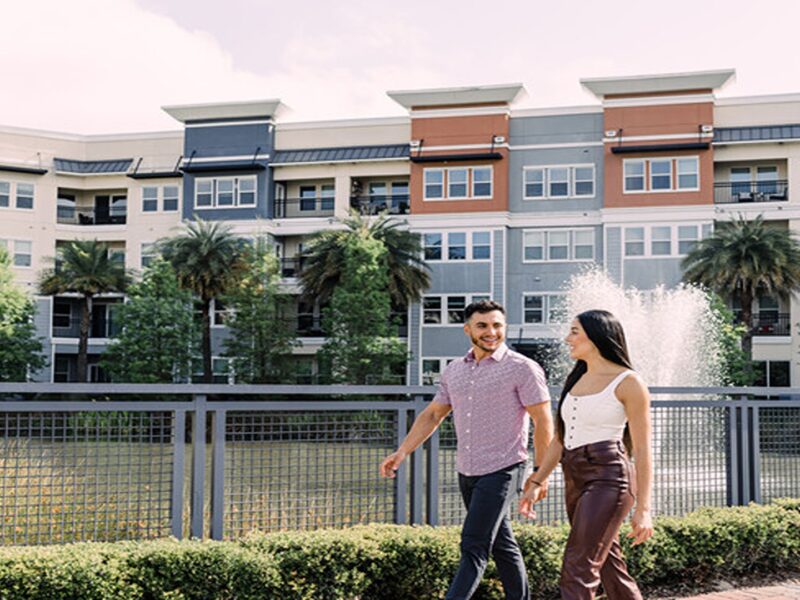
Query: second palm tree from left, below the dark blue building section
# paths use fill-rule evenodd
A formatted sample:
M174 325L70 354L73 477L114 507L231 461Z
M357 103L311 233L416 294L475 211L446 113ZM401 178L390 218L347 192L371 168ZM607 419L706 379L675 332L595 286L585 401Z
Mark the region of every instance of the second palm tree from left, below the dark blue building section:
M159 240L164 259L175 269L180 285L200 299L203 315L203 382L211 383L211 301L223 296L243 269L245 240L224 223L197 219L181 235Z

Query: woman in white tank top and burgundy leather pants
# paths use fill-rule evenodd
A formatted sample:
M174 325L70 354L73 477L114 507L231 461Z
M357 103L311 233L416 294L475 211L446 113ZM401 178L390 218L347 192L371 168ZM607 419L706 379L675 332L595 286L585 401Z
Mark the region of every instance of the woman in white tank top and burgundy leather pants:
M591 600L602 582L609 600L641 600L622 556L619 529L635 502L628 536L637 545L653 535L650 396L632 370L625 334L611 313L579 314L566 342L577 362L561 392L558 434L525 484L520 512L535 518L533 504L545 497L543 484L560 460L572 525L561 597Z

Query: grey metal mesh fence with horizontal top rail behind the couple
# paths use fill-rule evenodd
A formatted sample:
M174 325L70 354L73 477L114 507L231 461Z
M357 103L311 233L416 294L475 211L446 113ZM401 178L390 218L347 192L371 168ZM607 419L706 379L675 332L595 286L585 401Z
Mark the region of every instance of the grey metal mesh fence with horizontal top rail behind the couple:
M0 384L0 545L458 524L450 419L378 473L434 391ZM800 389L652 391L657 514L800 496ZM544 523L558 469L550 490Z

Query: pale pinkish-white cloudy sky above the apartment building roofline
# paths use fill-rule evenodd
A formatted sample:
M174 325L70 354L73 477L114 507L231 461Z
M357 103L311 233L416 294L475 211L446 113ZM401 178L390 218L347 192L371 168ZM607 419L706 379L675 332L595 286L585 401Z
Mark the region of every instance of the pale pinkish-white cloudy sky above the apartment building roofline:
M397 116L387 90L736 69L718 97L800 93L797 0L0 0L0 126L177 130L161 110L280 98L281 121ZM798 115L800 120L800 115Z

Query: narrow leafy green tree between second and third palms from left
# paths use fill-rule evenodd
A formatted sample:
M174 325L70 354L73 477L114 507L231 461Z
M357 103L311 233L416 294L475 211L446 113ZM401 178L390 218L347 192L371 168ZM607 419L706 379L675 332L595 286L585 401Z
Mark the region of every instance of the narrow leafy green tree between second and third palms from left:
M284 383L286 357L296 344L294 327L287 319L292 298L280 288L280 265L264 238L245 249L242 261L241 279L225 296L230 309L225 355L237 381Z

